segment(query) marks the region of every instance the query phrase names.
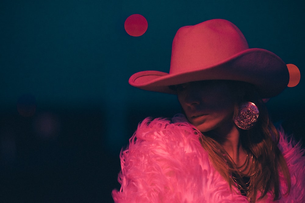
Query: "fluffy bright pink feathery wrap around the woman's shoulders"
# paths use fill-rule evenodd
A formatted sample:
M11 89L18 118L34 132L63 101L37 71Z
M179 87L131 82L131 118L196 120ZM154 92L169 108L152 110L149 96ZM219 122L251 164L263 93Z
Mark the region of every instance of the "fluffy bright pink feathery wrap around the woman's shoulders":
M184 117L146 118L122 151L120 191L113 190L116 203L124 202L248 202L214 169L199 134ZM282 150L291 173L291 191L276 202L305 202L305 158L300 144L288 142L281 131ZM281 192L286 184L281 176ZM257 202L274 202L272 194Z

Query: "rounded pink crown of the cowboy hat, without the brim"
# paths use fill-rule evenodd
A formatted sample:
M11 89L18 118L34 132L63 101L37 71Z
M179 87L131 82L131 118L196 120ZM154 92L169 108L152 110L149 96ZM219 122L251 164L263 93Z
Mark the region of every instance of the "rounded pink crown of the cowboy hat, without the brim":
M184 26L173 40L170 74L209 68L246 49L246 38L230 21L212 19Z

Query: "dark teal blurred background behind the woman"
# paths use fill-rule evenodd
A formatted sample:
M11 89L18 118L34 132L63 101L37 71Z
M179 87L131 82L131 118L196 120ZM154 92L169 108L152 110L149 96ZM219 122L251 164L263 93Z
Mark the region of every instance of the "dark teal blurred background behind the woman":
M304 10L303 1L288 0L2 0L2 202L112 202L120 149L138 122L180 111L175 96L133 88L129 76L168 72L178 28L213 18L230 20L251 48L276 53L302 75ZM148 21L140 37L124 30L135 13ZM267 103L273 121L297 139L304 85L301 76ZM20 101L35 104L35 114L18 114Z

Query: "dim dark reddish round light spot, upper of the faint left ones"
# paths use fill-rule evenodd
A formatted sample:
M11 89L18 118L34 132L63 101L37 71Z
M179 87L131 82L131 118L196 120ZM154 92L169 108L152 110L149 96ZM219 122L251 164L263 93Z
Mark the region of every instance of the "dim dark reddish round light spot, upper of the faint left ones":
M31 117L36 111L36 99L31 94L24 94L17 101L18 113L23 117Z

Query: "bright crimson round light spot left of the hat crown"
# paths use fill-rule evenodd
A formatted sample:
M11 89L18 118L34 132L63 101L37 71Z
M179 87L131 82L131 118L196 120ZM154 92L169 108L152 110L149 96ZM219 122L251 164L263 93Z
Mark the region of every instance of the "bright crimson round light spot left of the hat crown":
M144 16L133 14L125 20L124 27L129 35L139 37L146 32L148 23Z

